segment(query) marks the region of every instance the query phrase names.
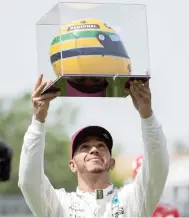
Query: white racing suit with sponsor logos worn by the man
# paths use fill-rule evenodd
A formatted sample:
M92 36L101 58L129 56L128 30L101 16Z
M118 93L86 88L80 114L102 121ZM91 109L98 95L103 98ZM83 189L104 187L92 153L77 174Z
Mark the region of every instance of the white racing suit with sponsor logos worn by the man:
M45 124L34 118L22 146L18 185L36 217L151 217L167 179L166 138L155 115L141 119L144 160L135 182L94 193L56 190L44 173ZM52 145L53 146L53 145ZM63 173L62 173L63 175Z

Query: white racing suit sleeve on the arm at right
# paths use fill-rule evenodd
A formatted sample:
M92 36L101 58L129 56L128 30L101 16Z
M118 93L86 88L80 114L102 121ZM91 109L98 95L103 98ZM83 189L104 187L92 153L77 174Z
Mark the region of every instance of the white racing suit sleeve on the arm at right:
M144 141L143 164L139 169L130 190L125 186L121 195L127 203L130 217L151 217L164 190L168 171L169 156L167 142L162 126L154 114L142 119L142 137Z

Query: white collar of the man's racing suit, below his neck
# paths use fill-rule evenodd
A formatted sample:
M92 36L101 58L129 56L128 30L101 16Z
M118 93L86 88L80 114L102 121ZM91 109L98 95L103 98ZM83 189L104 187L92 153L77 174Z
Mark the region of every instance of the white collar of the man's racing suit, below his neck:
M113 184L111 184L105 189L96 189L95 192L84 192L77 187L76 193L80 197L93 197L93 198L95 197L95 199L100 200L112 194L113 191L114 191Z

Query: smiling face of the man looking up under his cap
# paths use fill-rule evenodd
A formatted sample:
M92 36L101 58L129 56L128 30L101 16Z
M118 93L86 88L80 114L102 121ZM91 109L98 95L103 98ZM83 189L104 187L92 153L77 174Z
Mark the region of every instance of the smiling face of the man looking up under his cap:
M86 137L78 145L69 164L72 172L103 173L113 169L115 161L103 140L97 137Z

